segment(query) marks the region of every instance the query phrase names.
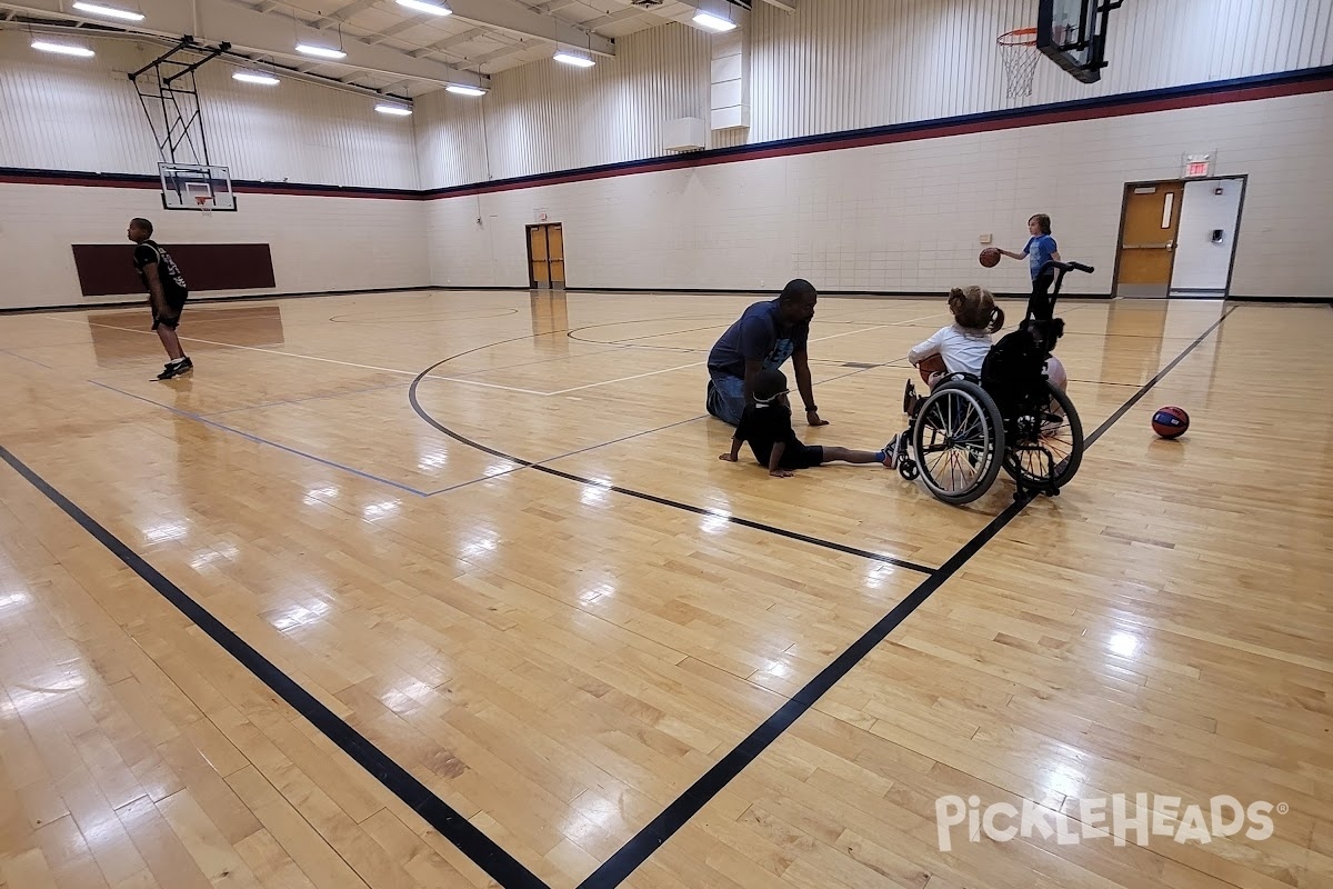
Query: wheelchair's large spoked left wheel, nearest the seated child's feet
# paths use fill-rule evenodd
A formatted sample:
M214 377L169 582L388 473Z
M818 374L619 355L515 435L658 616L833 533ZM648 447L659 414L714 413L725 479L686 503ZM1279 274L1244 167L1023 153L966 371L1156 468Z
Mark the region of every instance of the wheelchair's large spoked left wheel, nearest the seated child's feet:
M1000 474L1004 421L981 387L945 383L921 403L912 425L912 446L930 493L961 506L986 493Z

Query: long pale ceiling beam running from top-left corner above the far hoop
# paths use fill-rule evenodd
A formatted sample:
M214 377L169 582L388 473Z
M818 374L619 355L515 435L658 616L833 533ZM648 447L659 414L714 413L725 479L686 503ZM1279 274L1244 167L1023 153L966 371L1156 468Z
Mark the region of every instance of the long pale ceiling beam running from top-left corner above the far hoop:
M489 0L488 0L489 1ZM124 27L131 33L147 33L160 37L180 39L192 35L204 43L231 43L237 52L255 52L275 59L309 61L308 56L296 52L292 31L279 27L272 16L256 12L227 0L136 0L139 11L147 17L143 23ZM95 21L105 25L105 20L92 16L72 15L63 11L61 0L23 0L0 5L16 8L32 15L53 15L72 21ZM197 28L196 28L197 23ZM305 23L309 27L309 23ZM447 85L451 83L476 83L477 75L460 71L452 65L432 59L416 59L389 47L376 47L352 37L343 37L345 59L329 63L341 68L368 71L391 77L420 80Z

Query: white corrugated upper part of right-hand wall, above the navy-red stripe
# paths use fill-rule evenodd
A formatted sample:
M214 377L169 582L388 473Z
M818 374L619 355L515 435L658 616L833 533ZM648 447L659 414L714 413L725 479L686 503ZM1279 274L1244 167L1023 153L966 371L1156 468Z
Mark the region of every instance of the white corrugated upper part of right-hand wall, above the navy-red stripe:
M1036 0L754 7L752 125L712 132L709 148L1333 64L1333 0L1134 0L1113 13L1098 84L1042 60L1032 96L1009 99L994 39L1036 24ZM480 101L423 99L423 188L665 155L663 124L708 119L709 40L665 25L617 40L596 68L541 61L495 75Z

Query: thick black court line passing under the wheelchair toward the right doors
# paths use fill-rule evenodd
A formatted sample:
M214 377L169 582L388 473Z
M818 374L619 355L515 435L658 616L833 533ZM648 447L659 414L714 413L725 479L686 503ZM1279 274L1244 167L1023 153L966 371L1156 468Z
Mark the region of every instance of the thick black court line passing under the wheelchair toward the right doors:
M1217 319L1212 327L1190 343L1184 352L1162 368L1157 376L1140 387L1116 413L1106 419L1085 443L1085 449L1092 446L1110 427L1133 408L1140 399L1156 387L1162 377L1185 360L1213 331L1221 327L1230 311ZM874 626L868 629L858 640L844 650L832 664L820 670L818 676L810 680L773 716L768 717L757 729L736 745L730 753L717 761L713 768L704 773L693 785L680 794L661 814L648 822L635 837L620 848L600 868L592 872L587 880L579 884L579 889L615 889L635 870L643 865L664 842L680 830L685 822L693 818L700 809L717 796L745 766L753 762L768 746L792 726L808 709L836 685L852 668L860 664L880 642L888 637L906 617L928 600L940 586L945 584L969 558L976 556L1005 525L1013 521L1018 513L1026 508L1037 494L1029 494L1025 500L1017 500L990 520L962 549L956 552L937 572L926 577L913 589L906 598L894 605L893 610L885 614Z

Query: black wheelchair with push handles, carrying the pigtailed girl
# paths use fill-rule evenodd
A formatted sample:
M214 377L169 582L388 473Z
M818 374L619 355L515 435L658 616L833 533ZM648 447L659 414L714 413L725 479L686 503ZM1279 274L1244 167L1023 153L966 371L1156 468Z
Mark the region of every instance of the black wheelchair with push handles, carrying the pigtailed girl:
M1054 260L1046 269L1054 271L1052 292L1033 296L1018 325L1033 332L1045 353L1042 361L1062 333L1064 323L1053 316L1064 276L1093 272L1089 265ZM1084 452L1078 412L1045 373L1002 393L988 392L976 375L949 373L929 395L914 399L906 435L898 473L908 481L920 477L937 500L960 506L990 490L1001 469L1017 484L1014 500L1056 496L1078 472Z

